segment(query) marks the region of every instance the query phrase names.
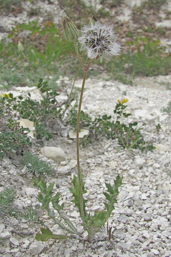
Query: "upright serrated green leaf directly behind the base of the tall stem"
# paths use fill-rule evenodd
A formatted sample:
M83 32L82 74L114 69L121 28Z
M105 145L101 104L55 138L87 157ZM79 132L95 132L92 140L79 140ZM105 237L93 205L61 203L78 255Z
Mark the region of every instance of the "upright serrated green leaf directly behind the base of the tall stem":
M83 182L83 174L81 173L81 180L82 180L82 191L83 191L83 194L85 194L87 191L85 190L84 188L84 184L85 182ZM73 184L73 188L68 188L70 190L70 192L73 194L74 196L74 200L72 200L72 202L74 202L74 204L78 207L78 210L80 212L80 215L81 215L81 206L80 206L80 188L79 188L79 180L78 180L78 176L75 176L74 175L74 178L73 178L73 181L72 181L72 184ZM87 200L85 200L83 198L83 209L84 209L84 216L87 216L87 213L86 213L86 202Z

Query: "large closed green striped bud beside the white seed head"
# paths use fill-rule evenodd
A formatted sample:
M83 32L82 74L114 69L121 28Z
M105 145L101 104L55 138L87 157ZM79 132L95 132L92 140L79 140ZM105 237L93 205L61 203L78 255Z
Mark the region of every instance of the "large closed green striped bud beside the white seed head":
M70 42L76 41L80 35L79 30L76 28L73 21L66 15L62 16L62 29L64 31L65 39Z

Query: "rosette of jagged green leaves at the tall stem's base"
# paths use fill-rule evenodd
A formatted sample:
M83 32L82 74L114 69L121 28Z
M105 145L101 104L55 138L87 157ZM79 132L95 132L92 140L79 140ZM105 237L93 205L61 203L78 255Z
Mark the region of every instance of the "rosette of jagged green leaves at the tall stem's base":
M82 179L82 192L85 194L87 191L84 188L84 182L83 182L83 174L81 174L81 179ZM84 208L84 215L81 215L81 203L80 203L80 188L79 188L79 181L78 181L78 176L74 175L74 179L72 181L73 187L69 188L69 190L72 192L74 199L72 202L75 204L76 207L78 207L78 211L80 213L80 216L83 220L83 226L85 230L88 232L88 241L91 242L93 235L99 230L99 228L105 224L107 219L110 217L112 210L114 210L114 204L117 203L116 196L119 194L118 188L122 184L122 176L117 175L116 180L114 180L113 186L111 186L110 183L105 183L107 187L107 191L104 192L103 194L105 195L106 201L104 202L105 204L105 209L102 210L101 212L97 211L94 213L94 215L91 215L90 213L86 212L86 202L83 198L83 208ZM38 195L38 200L39 202L42 203L41 208L46 209L46 212L50 218L54 220L56 224L58 224L63 230L67 231L71 235L77 234L82 238L82 234L77 232L77 229L75 226L72 224L72 222L69 220L68 216L64 212L64 203L62 205L59 205L59 197L60 194L57 192L56 194L53 195L53 186L54 183L50 183L50 185L47 187L46 183L43 180L43 177L41 177L41 180L38 181L38 178L34 178L33 180L34 186L38 186L40 189L40 194ZM52 206L54 210L56 210L60 218L64 220L64 223L61 223L58 218L56 218L54 210L51 210L49 204L50 202L52 203ZM41 241L46 241L49 238L56 238L56 239L63 239L68 237L67 235L56 235L53 234L49 228L41 228L41 234L37 233L36 234L36 239L41 240Z

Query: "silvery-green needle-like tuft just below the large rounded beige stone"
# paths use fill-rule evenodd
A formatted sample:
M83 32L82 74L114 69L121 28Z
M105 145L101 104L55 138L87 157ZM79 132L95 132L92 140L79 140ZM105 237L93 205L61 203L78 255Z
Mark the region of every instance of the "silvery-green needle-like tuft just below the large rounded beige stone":
M44 176L45 174L52 177L55 174L55 168L48 162L40 160L38 156L28 151L24 152L23 158L20 159L20 164L26 166L29 172L38 174L38 176Z

